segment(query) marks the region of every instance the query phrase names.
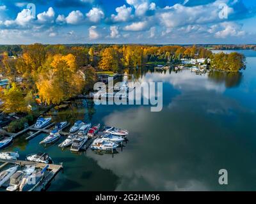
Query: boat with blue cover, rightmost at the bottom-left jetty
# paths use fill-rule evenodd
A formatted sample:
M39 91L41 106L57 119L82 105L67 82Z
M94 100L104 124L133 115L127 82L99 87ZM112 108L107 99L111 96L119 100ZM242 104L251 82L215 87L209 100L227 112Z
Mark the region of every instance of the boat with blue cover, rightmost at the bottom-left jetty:
M20 184L20 191L33 191L44 179L45 171L49 168L49 164L45 166L42 171L38 171L29 175L26 179L22 180ZM33 181L33 182L31 182Z

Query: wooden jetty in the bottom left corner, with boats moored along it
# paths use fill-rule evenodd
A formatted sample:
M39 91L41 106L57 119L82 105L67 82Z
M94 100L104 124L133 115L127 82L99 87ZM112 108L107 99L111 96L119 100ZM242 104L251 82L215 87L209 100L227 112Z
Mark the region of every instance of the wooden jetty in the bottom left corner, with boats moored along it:
M35 163L31 161L19 161L19 160L5 160L5 159L0 159L0 171L3 170L4 166L7 166L8 164L17 164L22 166L26 165L35 165L36 168L44 168L47 164L44 163ZM60 165L56 164L49 164L49 168L47 171L45 171L45 176L42 182L35 188L34 191L45 191L49 185L51 184L51 181L56 177L56 175L62 171L63 172L63 165L62 163ZM3 187L7 187L7 185L3 185Z

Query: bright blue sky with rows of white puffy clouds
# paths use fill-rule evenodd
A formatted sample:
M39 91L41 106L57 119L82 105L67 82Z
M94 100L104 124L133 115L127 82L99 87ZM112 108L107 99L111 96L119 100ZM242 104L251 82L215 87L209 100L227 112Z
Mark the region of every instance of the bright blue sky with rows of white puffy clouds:
M0 44L256 43L251 0L0 0Z

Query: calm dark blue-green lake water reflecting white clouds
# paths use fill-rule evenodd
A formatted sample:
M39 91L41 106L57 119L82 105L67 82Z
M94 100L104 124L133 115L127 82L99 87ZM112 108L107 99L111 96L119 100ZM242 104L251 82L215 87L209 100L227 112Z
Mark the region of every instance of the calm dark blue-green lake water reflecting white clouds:
M256 52L246 55L239 74L189 70L177 73L139 69L140 82L163 82L163 110L149 106L93 106L84 100L58 112L54 121L86 122L128 129L129 142L112 157L88 150L73 154L58 144L17 138L5 150L47 152L63 162L49 191L255 191L256 190ZM88 108L89 106L89 108ZM228 171L228 185L218 184L218 171Z

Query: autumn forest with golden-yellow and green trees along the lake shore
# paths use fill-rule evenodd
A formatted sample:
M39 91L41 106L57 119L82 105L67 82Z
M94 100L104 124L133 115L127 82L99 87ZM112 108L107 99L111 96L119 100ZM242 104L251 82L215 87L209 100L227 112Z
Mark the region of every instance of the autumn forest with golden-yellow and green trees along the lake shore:
M0 90L6 113L30 112L35 98L43 105L84 93L97 81L97 71L122 73L147 64L179 64L180 59L211 59L211 67L239 71L244 56L212 54L204 47L170 45L1 45L0 73L8 89ZM88 66L88 65L92 66ZM81 75L83 72L83 75Z

